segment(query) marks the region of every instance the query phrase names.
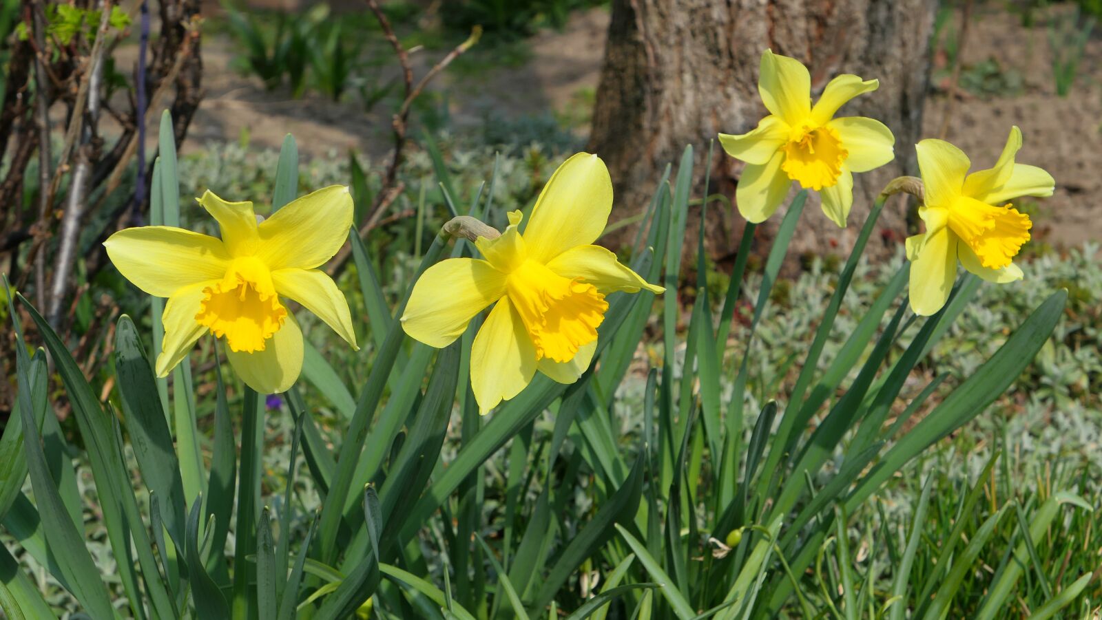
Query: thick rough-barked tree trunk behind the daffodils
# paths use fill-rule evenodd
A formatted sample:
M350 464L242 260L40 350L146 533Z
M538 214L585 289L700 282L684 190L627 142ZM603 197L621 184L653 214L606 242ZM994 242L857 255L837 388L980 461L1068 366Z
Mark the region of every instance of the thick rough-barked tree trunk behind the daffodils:
M822 215L812 192L789 251L847 254L884 184L917 172L912 145L921 129L934 10L933 0L613 0L590 151L608 165L616 208L622 216L644 208L661 168L676 163L685 144L696 148L702 181L709 140L749 131L768 113L757 91L758 62L768 47L808 66L813 97L838 74L879 79L878 90L839 116L887 124L896 137L895 161L854 175L844 230ZM698 185L695 195L720 192L733 202L742 167L716 143L712 187ZM716 206L711 213L722 210ZM773 238L782 213L758 227L759 247ZM736 249L745 221L735 216L710 221L713 258ZM879 227L883 243L874 240L869 251L894 251L906 233L904 207L886 208Z

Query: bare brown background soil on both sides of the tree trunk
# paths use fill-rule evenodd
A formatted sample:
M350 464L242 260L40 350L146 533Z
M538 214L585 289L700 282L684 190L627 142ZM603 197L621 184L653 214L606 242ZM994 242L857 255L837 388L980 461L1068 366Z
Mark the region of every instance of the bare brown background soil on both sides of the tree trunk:
M1025 148L1019 161L1044 166L1056 177L1056 194L1039 205L1037 238L1055 246L1102 240L1102 39L1087 45L1079 76L1068 97L1056 95L1049 30L1045 15L1025 28L1018 17L1001 6L981 6L973 12L963 45L963 73L994 61L1013 88L979 96L964 89L950 101L948 72L936 78L926 100L926 135L942 137L972 154L976 166L998 156L1012 124L1022 128ZM471 127L488 118L516 118L576 107L579 95L597 86L604 55L608 12L595 9L575 13L562 31L543 31L531 37L522 63L503 63L476 72L449 70L433 85L451 93L454 124ZM958 24L959 28L959 24ZM204 86L201 106L188 142L237 140L247 131L255 145L278 148L283 135L300 138L300 150L321 155L357 149L382 154L390 145L389 118L378 107L371 113L354 102L333 102L318 96L292 99L287 91L264 90L255 77L231 68L237 53L228 35L204 41ZM413 54L419 76L442 52ZM936 64L944 67L944 55ZM584 97L583 97L584 98ZM493 122L493 120L490 121ZM309 137L309 138L307 138ZM903 148L903 145L899 145Z

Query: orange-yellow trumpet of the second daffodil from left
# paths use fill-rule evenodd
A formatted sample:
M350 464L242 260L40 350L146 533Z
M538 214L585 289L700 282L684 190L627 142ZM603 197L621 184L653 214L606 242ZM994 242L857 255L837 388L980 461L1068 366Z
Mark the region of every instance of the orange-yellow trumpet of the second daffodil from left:
M511 271L506 286L536 345L536 359L570 361L579 348L597 339L608 303L592 284L526 260Z

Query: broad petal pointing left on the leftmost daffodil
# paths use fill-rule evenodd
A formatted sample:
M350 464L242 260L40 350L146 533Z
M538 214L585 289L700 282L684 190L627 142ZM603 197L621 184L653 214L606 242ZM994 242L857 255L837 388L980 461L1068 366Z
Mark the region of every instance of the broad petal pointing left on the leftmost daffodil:
M158 297L218 280L229 268L220 240L170 226L127 228L108 237L104 248L123 278Z

